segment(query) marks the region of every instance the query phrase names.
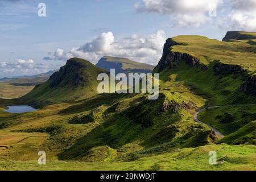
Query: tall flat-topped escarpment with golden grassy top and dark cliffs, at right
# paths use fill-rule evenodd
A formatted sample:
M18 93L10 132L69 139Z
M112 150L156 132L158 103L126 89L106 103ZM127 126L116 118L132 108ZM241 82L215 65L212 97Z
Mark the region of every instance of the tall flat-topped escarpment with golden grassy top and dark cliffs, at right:
M234 51L234 49L237 50ZM255 96L255 77L251 76L256 64L256 60L253 59L256 56L254 52L255 47L243 42L224 43L202 36L177 36L166 40L163 56L154 72L160 73L166 69L170 69L171 72L171 70L181 68L181 62L183 62L188 67L197 69L197 72L209 70L208 74L213 74L216 78L230 79L230 84L232 84L231 80L235 79L233 91L228 92L226 90L228 88L222 88L223 93L233 93L236 88L237 92ZM239 60L238 57L240 57Z

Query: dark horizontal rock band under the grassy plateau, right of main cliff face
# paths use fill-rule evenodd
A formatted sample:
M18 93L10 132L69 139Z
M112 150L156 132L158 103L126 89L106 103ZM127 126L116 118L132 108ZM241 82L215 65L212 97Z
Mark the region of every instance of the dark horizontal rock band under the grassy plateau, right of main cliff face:
M229 75L233 73L236 73L236 74L246 73L246 70L243 69L240 65L223 64L223 63L216 63L213 67L213 71L221 75Z

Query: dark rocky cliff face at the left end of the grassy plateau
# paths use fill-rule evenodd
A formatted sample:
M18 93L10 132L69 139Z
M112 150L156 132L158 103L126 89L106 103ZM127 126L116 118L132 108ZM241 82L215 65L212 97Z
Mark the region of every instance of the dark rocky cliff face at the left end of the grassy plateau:
M200 60L197 57L191 56L188 53L172 52L172 46L185 46L185 44L177 43L172 39L166 40L163 49L163 56L156 67L158 72L161 72L166 68L175 68L181 60L185 60L185 63L187 63L189 67L193 67L200 63Z

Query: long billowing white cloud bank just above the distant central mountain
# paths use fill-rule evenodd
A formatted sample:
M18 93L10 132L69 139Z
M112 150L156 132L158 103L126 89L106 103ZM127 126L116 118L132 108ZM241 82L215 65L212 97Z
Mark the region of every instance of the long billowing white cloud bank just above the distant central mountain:
M105 55L127 57L142 63L157 64L163 50L166 34L159 30L156 34L139 36L133 34L121 40L115 40L113 32L104 32L78 48L72 48L65 52L56 49L53 57L45 57L45 60L67 60L71 57L81 57L93 63Z

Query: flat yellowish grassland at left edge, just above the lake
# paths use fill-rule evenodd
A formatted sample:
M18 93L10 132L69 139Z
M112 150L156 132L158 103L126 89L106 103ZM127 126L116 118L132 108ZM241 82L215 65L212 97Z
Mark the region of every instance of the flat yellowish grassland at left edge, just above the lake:
M33 88L34 86L15 86L13 84L0 82L0 98L18 98L24 96Z

